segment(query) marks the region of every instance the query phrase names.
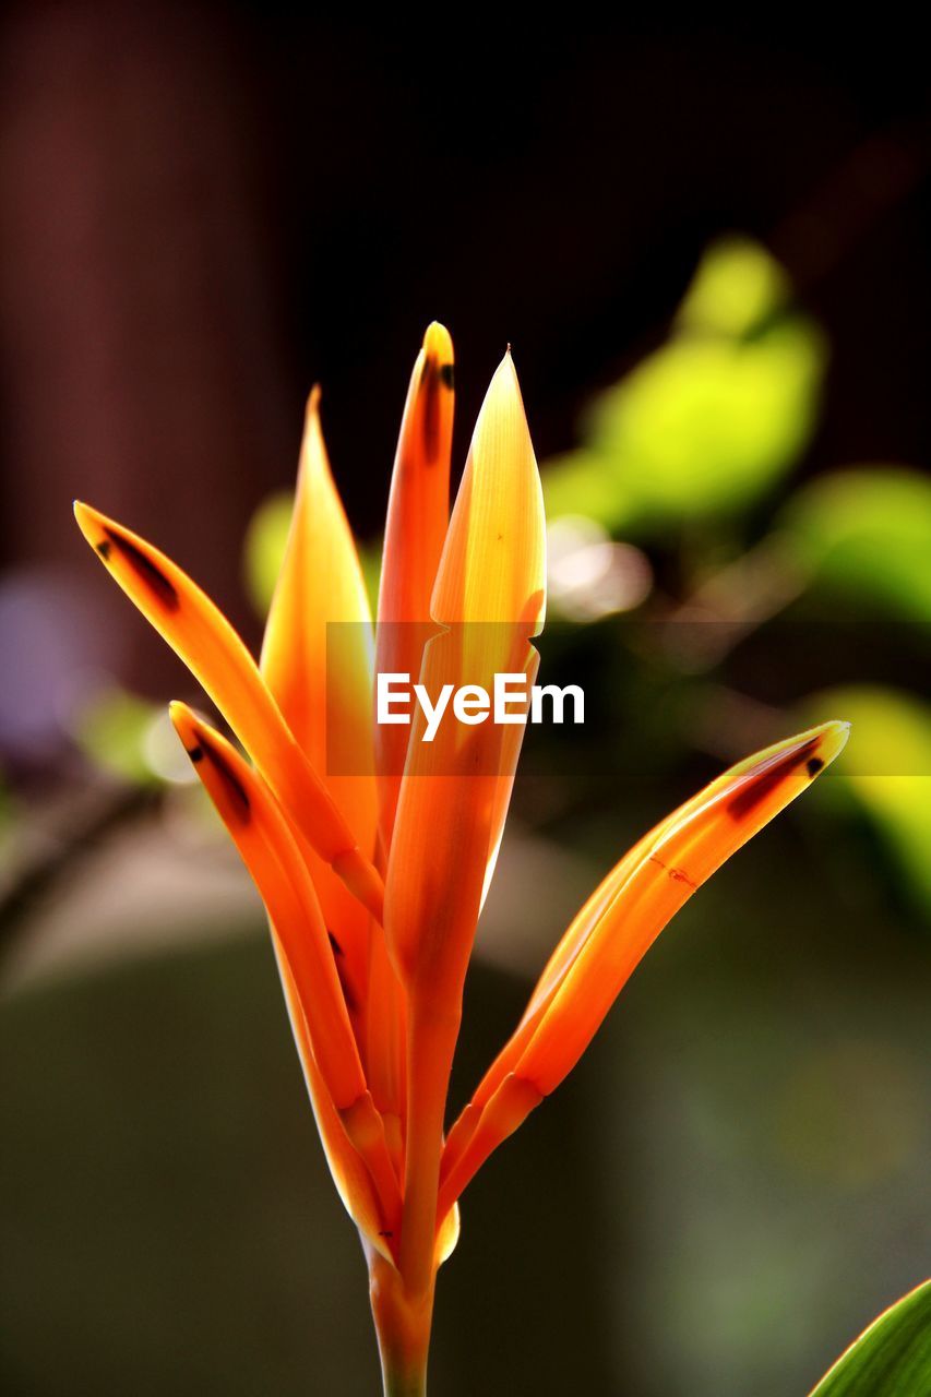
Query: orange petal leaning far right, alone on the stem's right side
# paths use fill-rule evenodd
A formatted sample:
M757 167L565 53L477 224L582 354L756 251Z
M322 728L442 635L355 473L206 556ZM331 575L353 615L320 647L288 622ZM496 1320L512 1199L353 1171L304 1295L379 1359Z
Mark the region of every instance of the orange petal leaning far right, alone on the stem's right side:
M847 733L847 724L829 722L745 759L663 820L608 875L450 1133L440 1215L520 1123L513 1104L533 1094L540 1101L559 1085L672 915L833 761Z

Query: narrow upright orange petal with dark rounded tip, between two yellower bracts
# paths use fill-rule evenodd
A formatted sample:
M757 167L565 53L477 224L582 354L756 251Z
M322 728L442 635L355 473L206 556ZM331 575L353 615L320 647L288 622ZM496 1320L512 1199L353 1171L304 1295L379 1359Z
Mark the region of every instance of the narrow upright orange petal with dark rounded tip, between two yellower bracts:
M433 321L424 335L407 391L391 474L382 581L376 671L415 679L431 622L431 597L449 524L453 446L453 341ZM410 729L376 728L382 837L387 848Z

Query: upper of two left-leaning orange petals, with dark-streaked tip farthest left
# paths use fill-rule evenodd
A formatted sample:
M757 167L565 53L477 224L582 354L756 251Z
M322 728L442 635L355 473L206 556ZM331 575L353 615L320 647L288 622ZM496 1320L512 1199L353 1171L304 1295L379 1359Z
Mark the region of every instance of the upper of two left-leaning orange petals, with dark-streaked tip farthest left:
M382 880L316 775L226 617L138 534L75 502L81 532L127 597L180 655L236 732L309 844L380 916Z

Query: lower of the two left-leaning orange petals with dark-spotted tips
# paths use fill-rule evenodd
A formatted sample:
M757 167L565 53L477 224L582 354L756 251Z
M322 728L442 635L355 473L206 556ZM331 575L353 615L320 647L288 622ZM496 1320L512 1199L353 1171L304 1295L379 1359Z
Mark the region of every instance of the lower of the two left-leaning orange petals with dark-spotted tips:
M194 770L252 873L284 950L310 1046L333 1105L390 1215L397 1178L349 1024L334 947L288 821L261 775L186 704L171 717Z

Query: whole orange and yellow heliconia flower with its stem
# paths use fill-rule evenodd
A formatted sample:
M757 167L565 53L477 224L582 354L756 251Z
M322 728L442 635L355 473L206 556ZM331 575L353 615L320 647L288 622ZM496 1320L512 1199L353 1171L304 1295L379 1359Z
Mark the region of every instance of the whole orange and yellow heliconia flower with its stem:
M172 721L266 905L326 1157L362 1238L386 1393L425 1391L433 1289L475 1171L576 1065L678 908L830 763L828 722L726 771L644 835L556 946L446 1134L463 985L524 725L375 721L380 673L426 692L533 682L545 521L505 356L449 515L453 346L431 326L394 462L375 637L310 395L291 534L256 664L164 553L87 504L88 542L239 739ZM338 631L338 644L331 643ZM354 753L351 771L334 750Z

